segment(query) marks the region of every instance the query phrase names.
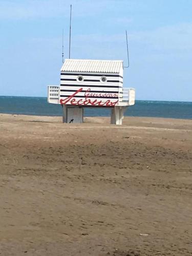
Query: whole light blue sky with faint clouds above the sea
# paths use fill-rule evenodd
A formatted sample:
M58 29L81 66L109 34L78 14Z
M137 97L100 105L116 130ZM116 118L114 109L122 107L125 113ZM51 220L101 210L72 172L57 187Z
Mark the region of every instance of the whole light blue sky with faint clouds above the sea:
M0 0L0 95L47 96L68 58L123 59L141 100L192 101L191 0Z

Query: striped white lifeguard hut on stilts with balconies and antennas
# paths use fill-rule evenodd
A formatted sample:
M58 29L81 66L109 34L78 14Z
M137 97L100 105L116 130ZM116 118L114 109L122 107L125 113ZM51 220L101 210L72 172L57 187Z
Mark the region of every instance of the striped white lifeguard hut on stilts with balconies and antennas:
M122 60L71 59L69 51L60 85L48 86L48 102L62 106L65 123L82 123L84 108L108 108L111 123L121 125L124 111L135 104L135 89L123 86L124 68Z

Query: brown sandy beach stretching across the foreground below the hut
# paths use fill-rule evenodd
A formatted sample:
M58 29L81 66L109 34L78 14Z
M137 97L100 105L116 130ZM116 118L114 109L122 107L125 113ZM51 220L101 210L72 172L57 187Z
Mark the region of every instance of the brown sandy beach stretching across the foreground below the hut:
M192 120L108 122L0 115L1 255L192 254Z

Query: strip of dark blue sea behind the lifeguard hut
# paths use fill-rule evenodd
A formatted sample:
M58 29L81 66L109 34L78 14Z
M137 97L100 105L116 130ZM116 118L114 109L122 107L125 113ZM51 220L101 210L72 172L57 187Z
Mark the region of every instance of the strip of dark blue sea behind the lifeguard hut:
M45 97L0 96L0 113L62 116L62 108L58 104L49 104ZM110 109L85 108L84 116L110 116ZM192 119L192 102L136 100L125 116Z

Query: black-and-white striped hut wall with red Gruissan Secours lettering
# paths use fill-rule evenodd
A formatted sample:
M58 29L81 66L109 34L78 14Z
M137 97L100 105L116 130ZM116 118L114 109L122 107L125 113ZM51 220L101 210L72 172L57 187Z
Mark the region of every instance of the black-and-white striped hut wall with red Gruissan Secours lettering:
M100 78L106 75L104 73L68 72L65 75L62 73L59 92L61 104L110 106L110 104L117 104L122 95L123 79L118 73L108 73L111 76L106 76L106 82L100 81ZM78 75L83 77L83 81L77 81Z

